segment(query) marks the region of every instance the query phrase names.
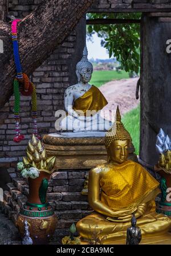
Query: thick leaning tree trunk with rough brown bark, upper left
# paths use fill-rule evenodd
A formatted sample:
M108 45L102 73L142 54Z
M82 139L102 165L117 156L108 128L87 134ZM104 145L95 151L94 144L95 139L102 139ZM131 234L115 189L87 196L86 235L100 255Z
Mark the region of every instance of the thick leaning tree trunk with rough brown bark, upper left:
M0 0L3 1L3 0ZM94 0L44 0L18 25L19 53L23 72L31 74L51 55L78 24ZM1 2L0 2L1 3ZM15 66L10 25L0 23L0 108L13 94Z

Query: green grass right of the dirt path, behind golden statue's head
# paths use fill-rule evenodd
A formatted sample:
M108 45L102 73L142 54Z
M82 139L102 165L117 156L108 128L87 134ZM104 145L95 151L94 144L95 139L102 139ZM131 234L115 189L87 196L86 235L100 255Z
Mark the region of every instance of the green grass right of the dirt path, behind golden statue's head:
M136 149L136 154L139 155L140 148L140 105L132 109L123 116L123 124L131 134L133 145Z

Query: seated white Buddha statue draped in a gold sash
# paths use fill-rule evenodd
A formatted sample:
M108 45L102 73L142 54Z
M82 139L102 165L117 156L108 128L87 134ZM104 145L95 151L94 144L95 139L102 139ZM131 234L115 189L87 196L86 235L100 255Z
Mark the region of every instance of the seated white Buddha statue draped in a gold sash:
M93 66L87 56L85 46L83 58L76 65L78 83L68 87L64 94L67 116L60 121L58 131L105 132L112 126L111 121L100 116L101 109L108 101L97 87L89 84Z

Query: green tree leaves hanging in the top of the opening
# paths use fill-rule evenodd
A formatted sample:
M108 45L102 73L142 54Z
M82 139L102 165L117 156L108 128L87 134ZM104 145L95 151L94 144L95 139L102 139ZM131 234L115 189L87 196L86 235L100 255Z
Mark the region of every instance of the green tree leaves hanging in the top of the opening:
M140 19L140 13L87 14L88 19ZM97 32L101 46L109 52L109 58L115 56L121 69L139 73L140 66L140 24L123 23L114 25L88 25L87 35L91 39Z

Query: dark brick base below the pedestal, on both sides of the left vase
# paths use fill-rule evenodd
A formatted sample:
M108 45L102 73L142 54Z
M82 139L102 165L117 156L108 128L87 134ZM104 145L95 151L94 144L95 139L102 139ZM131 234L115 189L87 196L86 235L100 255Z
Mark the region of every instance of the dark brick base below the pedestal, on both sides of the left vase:
M87 170L62 170L53 173L52 179L48 182L47 200L55 209L55 214L58 217L54 242L61 242L64 235L68 235L68 227L72 223L76 223L92 213L87 202L87 196L80 194L86 173ZM13 182L7 184L1 208L14 224L16 224L20 208L27 201L27 196L27 180L17 177L13 178Z

